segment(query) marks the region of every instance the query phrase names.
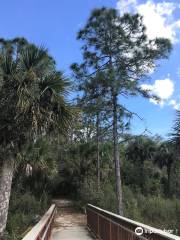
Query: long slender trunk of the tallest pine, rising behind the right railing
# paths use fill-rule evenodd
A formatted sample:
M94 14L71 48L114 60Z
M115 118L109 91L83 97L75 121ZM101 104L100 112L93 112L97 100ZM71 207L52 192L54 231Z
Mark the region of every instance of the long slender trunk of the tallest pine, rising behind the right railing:
M122 183L121 183L121 169L118 145L118 127L117 127L117 95L113 93L113 144L114 144L114 163L115 163L115 177L116 177L116 198L117 198L117 212L123 215L122 203Z

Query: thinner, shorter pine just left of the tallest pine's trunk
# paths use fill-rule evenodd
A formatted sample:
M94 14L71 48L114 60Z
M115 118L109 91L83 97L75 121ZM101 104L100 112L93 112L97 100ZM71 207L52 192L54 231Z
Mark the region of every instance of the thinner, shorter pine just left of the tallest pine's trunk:
M76 74L78 73L76 72ZM100 189L100 140L108 119L108 99L104 96L102 81L101 74L96 74L96 76L87 81L80 81L78 84L78 91L83 92L81 98L78 99L78 106L95 127L98 189Z

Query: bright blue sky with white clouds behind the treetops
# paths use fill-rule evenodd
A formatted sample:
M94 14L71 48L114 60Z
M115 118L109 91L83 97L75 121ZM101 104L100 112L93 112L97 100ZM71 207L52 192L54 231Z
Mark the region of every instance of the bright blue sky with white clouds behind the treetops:
M123 100L144 121L135 119L132 132L145 127L152 134L164 137L170 132L175 109L180 109L180 2L143 0L2 0L0 37L22 36L45 45L56 59L58 68L70 75L69 66L81 59L77 31L86 22L93 8L102 6L144 15L149 38L168 37L173 42L169 60L162 61L143 87L162 98L160 103L140 97Z

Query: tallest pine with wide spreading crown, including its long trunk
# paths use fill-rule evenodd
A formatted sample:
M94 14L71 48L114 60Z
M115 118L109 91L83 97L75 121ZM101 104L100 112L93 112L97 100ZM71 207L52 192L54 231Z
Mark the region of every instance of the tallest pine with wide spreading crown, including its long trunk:
M84 62L73 64L73 69L84 78L103 73L104 88L111 96L117 211L122 215L118 123L124 108L119 104L119 96L149 97L147 91L142 90L140 80L155 69L157 60L168 57L171 43L163 38L149 40L138 14L119 16L115 9L106 8L91 13L78 39L84 43Z

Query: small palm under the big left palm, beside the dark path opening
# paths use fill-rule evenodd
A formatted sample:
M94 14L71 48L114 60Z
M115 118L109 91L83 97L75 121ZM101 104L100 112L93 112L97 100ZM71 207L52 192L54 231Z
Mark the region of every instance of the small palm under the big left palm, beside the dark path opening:
M40 197L49 192L52 179L57 175L58 143L55 136L39 138L35 143L27 144L18 154L18 168L15 171L14 184L20 181L30 192ZM19 176L19 172L22 172Z

